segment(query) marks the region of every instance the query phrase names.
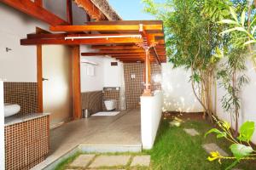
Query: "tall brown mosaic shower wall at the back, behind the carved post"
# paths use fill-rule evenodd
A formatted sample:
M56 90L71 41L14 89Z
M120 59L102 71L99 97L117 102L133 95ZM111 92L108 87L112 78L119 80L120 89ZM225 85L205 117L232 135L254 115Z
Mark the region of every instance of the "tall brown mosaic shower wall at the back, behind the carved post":
M126 105L127 109L135 109L140 106L140 96L143 94L143 63L124 63L125 71L125 93L126 93ZM155 82L154 79L161 77L161 68L157 64L151 64L151 89L161 89L161 84ZM134 79L131 79L131 74L135 75Z

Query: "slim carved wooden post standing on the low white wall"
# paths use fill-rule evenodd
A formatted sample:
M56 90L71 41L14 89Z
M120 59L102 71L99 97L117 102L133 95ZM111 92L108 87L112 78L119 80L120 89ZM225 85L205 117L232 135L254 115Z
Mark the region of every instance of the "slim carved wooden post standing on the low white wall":
M151 96L151 89L150 89L150 54L149 48L145 48L145 89L143 92L143 96Z

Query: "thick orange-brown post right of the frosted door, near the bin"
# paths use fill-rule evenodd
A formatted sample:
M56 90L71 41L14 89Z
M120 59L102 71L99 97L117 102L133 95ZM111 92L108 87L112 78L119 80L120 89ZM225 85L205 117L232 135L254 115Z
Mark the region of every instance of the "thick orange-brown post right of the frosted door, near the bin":
M80 49L79 46L72 48L73 54L73 118L82 117L81 85L80 85Z

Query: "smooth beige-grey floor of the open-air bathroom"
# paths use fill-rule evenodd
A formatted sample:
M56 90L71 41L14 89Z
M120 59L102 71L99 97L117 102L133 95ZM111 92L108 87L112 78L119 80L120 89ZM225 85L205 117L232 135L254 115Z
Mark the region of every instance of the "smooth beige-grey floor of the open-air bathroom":
M140 111L122 111L117 116L90 116L50 131L50 152L45 166L79 144L141 145ZM41 167L40 164L37 166Z

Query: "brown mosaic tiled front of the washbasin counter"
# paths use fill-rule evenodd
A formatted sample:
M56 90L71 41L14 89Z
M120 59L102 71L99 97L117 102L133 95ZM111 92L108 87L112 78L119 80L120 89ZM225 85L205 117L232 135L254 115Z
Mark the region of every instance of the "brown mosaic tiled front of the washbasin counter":
M27 170L49 152L49 116L4 127L5 169Z

